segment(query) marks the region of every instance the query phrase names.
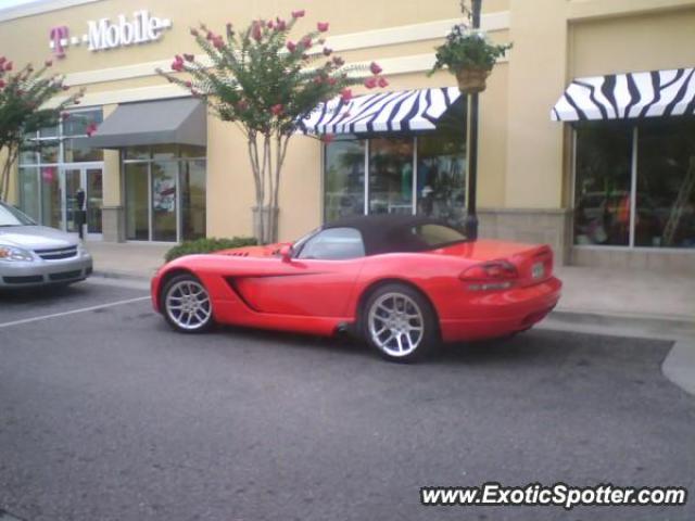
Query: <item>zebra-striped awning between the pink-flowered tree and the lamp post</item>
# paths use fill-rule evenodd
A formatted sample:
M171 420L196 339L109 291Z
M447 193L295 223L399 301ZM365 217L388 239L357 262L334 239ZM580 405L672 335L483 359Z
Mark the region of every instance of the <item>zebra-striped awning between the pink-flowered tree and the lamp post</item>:
M434 130L437 120L460 97L457 87L402 90L333 98L300 122L304 134L369 134Z

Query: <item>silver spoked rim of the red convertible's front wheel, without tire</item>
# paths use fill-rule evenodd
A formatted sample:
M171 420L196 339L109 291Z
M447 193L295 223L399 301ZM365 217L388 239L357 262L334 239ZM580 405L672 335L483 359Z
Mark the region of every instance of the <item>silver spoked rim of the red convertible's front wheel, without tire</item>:
M212 316L210 295L194 280L181 280L172 285L166 293L164 308L169 319L187 331L205 327Z

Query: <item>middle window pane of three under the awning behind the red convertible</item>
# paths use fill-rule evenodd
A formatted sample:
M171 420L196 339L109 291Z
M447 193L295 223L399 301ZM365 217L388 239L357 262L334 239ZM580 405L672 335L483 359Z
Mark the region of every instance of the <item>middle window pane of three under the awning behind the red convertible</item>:
M369 141L369 213L413 213L413 138Z

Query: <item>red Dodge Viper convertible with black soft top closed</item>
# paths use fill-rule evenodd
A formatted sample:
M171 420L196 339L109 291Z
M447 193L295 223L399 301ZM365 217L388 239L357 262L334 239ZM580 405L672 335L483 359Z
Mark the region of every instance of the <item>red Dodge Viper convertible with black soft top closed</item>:
M180 332L214 322L348 330L406 361L440 341L525 331L560 287L547 245L471 241L438 220L387 215L331 223L293 244L180 257L152 279L152 301Z

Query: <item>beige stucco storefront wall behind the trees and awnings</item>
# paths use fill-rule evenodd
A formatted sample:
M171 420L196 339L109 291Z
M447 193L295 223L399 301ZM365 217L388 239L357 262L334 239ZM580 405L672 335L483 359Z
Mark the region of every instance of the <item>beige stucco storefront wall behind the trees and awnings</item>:
M515 46L509 61L497 64L488 90L481 94L478 204L488 211L560 211L570 205L571 140L565 125L549 120L549 110L572 77L695 63L695 47L691 45L695 0L532 3L483 2L484 14L497 24L491 34L493 39L511 40ZM316 21L329 21L329 36L350 40L348 49L339 52L348 62L384 60L382 63L392 67L389 71L384 66L389 89L454 85L447 73L427 77L421 66L445 31L441 37L430 34L422 38L420 29L424 24L444 21L447 26L459 18L457 0L101 0L0 21L0 49L12 50L11 58L17 65L40 63L50 56L50 27L64 24L73 35L81 35L88 20L114 20L146 8L153 15L173 21L173 28L165 30L160 41L100 52L80 46L68 48L64 60L55 60L56 72L87 89L84 104L108 104L110 111L123 101L179 96L182 91L154 75L153 68L155 64L166 66L175 53L195 50L189 25L203 21L219 31L227 21L241 27L252 18L289 16L292 10L302 8L307 15L299 24L298 34ZM382 35L381 29L393 29L399 41L374 39ZM362 45L363 39L369 43ZM211 116L207 142L208 234L249 234L254 196L243 138L232 125ZM320 223L320 156L321 145L316 140L303 136L293 139L280 193L281 239L296 237ZM104 205L122 205L116 153L106 153L105 170Z

